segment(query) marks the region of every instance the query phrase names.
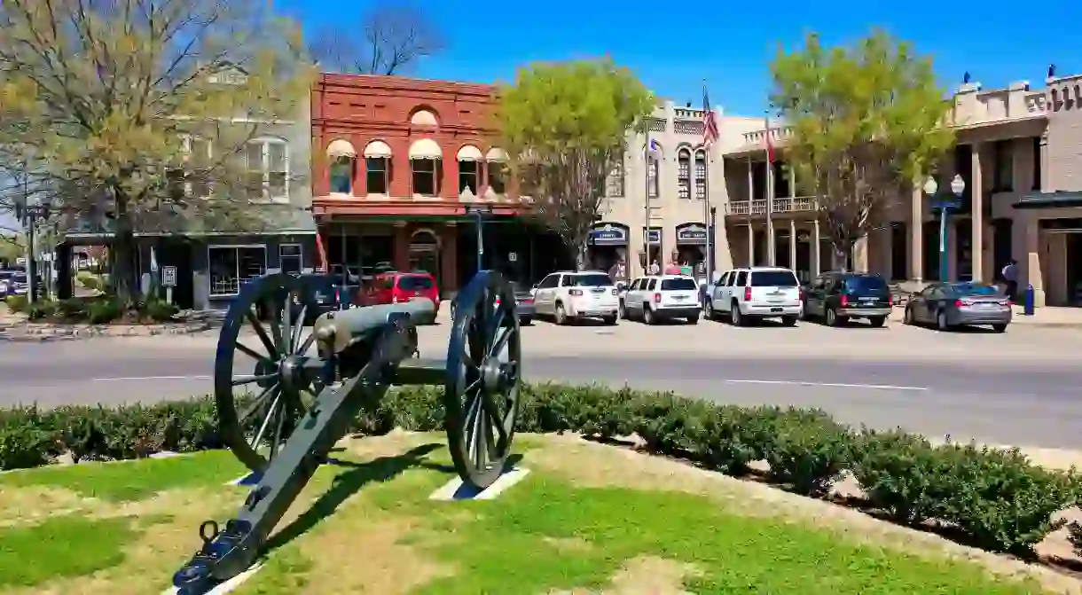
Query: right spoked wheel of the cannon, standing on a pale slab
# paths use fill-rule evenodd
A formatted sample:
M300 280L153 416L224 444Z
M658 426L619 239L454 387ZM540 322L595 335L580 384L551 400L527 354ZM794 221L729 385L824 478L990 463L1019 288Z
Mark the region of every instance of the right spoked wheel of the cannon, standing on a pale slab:
M478 273L454 300L444 391L454 470L484 489L506 464L522 376L514 291L493 270Z

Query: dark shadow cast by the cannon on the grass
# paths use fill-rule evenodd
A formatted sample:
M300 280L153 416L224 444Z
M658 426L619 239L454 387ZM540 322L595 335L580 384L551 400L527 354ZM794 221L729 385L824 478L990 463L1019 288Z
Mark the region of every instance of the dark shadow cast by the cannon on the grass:
M454 473L453 467L448 468L447 465L425 461L425 457L430 452L441 446L438 444L422 445L403 454L380 457L364 463L335 461L335 466L349 467L349 471L338 475L331 488L320 495L311 508L267 540L264 555L306 533L321 520L334 514L339 505L368 484L391 481L414 467L430 468L440 473Z

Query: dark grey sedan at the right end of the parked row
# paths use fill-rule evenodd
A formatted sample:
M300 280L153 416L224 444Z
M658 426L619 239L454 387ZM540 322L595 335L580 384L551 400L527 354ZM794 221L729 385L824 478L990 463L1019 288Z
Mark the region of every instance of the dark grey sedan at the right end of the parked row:
M1004 332L1011 323L1011 299L997 286L973 282L932 283L906 304L907 325L935 325L940 331L962 326L992 327Z

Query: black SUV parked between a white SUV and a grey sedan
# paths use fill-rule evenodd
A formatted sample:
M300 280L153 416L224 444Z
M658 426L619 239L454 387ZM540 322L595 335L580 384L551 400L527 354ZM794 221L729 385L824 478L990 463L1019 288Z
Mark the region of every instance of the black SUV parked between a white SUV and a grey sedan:
M890 288L879 275L823 273L804 290L804 319L822 318L828 327L867 318L882 327L890 316Z

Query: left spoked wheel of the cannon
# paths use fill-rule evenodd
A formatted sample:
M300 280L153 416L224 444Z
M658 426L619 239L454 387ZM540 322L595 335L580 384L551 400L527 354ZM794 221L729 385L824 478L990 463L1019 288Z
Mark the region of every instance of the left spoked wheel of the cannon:
M294 296L304 294L303 283L302 278L281 273L246 283L229 305L217 338L214 402L219 434L237 459L256 473L266 470L320 388L318 374L304 357L315 340L311 329L303 327L307 305L287 307ZM259 314L266 320L260 320ZM242 329L254 332L241 335ZM238 361L237 352L247 357ZM243 368L249 361L251 372L238 374L238 363Z

